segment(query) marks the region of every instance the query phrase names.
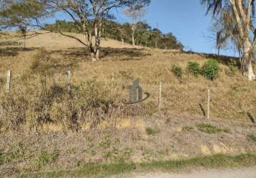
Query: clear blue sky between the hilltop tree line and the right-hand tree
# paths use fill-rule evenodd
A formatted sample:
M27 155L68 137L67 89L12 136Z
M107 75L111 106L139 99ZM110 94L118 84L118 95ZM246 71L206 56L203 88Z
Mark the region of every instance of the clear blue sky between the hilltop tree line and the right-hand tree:
M205 16L205 8L200 0L152 0L147 15L143 20L163 33L172 32L185 46L185 50L203 53L216 53L214 41L210 40L212 16ZM117 15L119 22L129 21L121 13ZM233 56L233 51L221 51Z

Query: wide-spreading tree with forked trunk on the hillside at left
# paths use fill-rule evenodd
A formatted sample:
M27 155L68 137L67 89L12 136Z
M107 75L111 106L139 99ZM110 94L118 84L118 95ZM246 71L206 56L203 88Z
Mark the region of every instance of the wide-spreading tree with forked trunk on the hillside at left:
M14 6L18 6L19 8L16 8L17 11L9 16L6 14L6 19L16 19L20 14L26 14L28 9L24 9L24 4L27 4L27 1L41 4L41 7L44 8L44 17L54 16L58 11L63 12L74 22L75 28L77 28L79 33L83 34L84 38L81 39L70 33L65 33L58 26L46 28L43 23L44 20L42 21L36 16L28 16L26 21L25 19L21 19L17 23L25 23L28 26L39 27L46 31L52 31L69 38L74 38L89 48L93 62L99 61L100 59L100 44L104 21L114 17L112 10L131 6L139 2L144 2L144 4L149 3L149 0L13 0L3 11L11 11ZM34 9L34 6L30 6L29 9ZM57 19L58 17L56 15Z

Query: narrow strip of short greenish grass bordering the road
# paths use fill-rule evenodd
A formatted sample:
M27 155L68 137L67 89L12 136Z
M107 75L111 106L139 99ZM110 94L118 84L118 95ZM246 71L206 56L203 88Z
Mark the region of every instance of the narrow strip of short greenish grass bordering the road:
M212 155L207 157L195 157L192 159L153 161L135 164L132 162L116 162L109 164L85 164L73 170L59 170L53 172L41 172L34 174L22 174L21 177L108 177L114 174L137 172L148 172L154 170L173 171L186 167L240 167L255 166L256 154L243 154L237 156Z

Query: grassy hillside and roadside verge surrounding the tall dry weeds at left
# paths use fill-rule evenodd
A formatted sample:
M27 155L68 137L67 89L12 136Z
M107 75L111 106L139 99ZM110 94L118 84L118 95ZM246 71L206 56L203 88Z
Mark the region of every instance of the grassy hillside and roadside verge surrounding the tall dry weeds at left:
M121 99L124 99L128 97L128 85L132 83L132 80L139 78L142 82L142 88L151 94L149 100L143 103L149 115L141 116L142 122L140 118L132 117L134 120L130 122L134 123L136 127L132 126L118 131L111 130L110 133L109 130L103 129L100 133L97 132L97 136L94 135L95 133L89 132L79 136L74 133L68 134L69 137L63 136L61 133L56 133L54 137L50 133L34 137L27 137L26 133L24 135L16 133L16 136L1 133L3 137L0 140L5 142L5 145L0 147L0 173L1 170L6 169L9 172L9 169L14 167L17 172L24 173L25 177L27 172L36 171L46 171L46 173L34 174L35 177L38 175L61 177L61 175L91 175L95 172L99 172L99 175L104 175L104 172L116 174L132 170L134 166L144 170L152 167L172 169L202 164L218 167L218 164L222 165L224 162L229 162L230 166L255 164L255 155L242 155L238 157L200 157L178 162L159 161L147 164L122 162L103 165L89 164L88 167L74 166L80 161L89 162L91 158L95 162L97 157L100 157L102 162L111 162L119 157L126 159L124 153L127 153L127 148L132 150L133 156L136 156L129 157L129 161L134 162L138 157L139 159L142 158L143 161L163 157L169 159L172 156L179 156L179 154L194 157L204 154L204 152L208 154L208 149L213 154L219 151L235 154L253 151L255 148L253 141L256 134L255 125L250 124L246 113L251 112L252 115L256 115L256 83L248 82L242 78L238 69L235 75L227 75L225 70L228 67L223 61L221 61L220 77L215 81L205 80L202 77L194 78L187 74L181 80L177 80L171 72L172 64L177 63L182 68L186 68L187 61L204 63L207 56L198 54L140 47L132 48L132 46L122 46L117 41L109 40L103 41L103 61L91 63L88 51L82 48L79 43L56 34L37 36L29 39L26 43L28 47L26 51L23 51L22 48L14 48L14 46L8 46L8 48L2 46L2 53L0 54L0 80L4 83L6 70L11 69L14 92L24 87L26 84L24 78L30 79L31 64L39 48L46 48L51 60L56 63L52 75L48 76L48 85L52 83L65 85L67 78L64 72L70 69L72 69L72 83L74 85L94 79L109 87L112 85L112 75L114 74L114 92L121 93ZM160 80L164 83L163 112L152 118L150 115L157 110ZM37 82L35 80L29 81L30 83ZM199 127L202 122L202 111L199 103L204 108L206 107L207 88L211 89L211 116L216 119L210 124L218 125L223 129L228 127L230 130L227 132L207 135L207 133L200 131L210 129L209 127ZM236 126L230 124L230 121L237 122ZM145 131L147 127L153 129L156 127L155 135L148 135L147 130ZM209 132L215 132L215 130ZM108 134L111 136L109 137ZM18 135L19 139L12 139L18 138ZM94 138L93 141L89 141L91 138ZM110 144L109 140L112 140ZM117 142L118 140L119 142ZM66 142L69 144L65 144ZM105 147L106 144L107 148ZM20 145L21 149L19 149ZM205 146L207 147L205 148ZM47 150L49 154L44 154L42 150ZM55 155L53 150L59 150L56 160L52 158ZM216 163L215 160L217 160ZM62 170L62 165L66 162L72 164L66 165L67 169L72 169L72 171L51 172L52 169L58 170L58 167Z

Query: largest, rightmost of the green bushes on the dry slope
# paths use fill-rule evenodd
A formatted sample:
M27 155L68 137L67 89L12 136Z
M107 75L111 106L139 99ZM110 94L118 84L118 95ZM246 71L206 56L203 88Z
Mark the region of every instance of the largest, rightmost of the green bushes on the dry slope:
M214 59L208 60L201 69L201 74L208 80L216 80L220 72L220 64Z

